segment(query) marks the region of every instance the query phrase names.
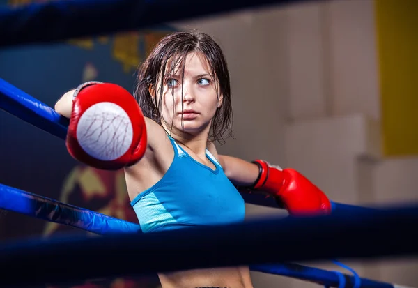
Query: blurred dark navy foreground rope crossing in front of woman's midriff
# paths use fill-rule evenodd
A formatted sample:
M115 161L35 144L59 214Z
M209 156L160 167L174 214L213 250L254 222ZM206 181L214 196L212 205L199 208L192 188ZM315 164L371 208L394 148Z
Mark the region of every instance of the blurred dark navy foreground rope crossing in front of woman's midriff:
M27 287L208 267L416 256L417 222L415 205L148 234L13 241L0 245L1 282ZM57 259L65 261L57 265ZM25 277L16 278L15 271L25 271Z

